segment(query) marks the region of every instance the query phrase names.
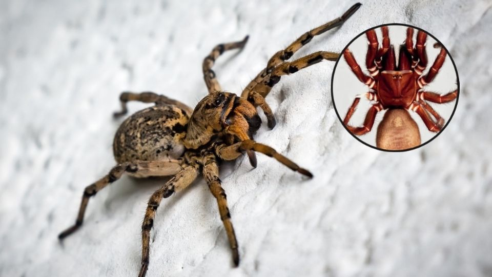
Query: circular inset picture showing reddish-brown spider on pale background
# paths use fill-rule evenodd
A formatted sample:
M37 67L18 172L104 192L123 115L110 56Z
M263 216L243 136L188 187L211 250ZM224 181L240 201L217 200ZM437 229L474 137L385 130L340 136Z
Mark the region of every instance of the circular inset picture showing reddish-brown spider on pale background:
M345 129L384 151L432 141L451 120L458 96L458 72L444 45L403 24L359 34L332 76L333 104Z

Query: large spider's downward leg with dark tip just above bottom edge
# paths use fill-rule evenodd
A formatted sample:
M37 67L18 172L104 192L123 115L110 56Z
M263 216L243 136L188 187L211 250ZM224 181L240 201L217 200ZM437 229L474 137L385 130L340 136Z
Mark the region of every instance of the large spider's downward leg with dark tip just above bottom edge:
M239 251L237 246L236 234L231 222L231 213L229 212L229 208L227 207L226 192L220 185L221 181L219 179L219 168L217 166L217 161L215 160L215 156L213 154L207 156L204 161L203 178L209 185L210 192L212 192L212 195L214 195L215 199L217 200L220 220L222 220L224 228L226 229L229 245L231 246L232 259L234 261L234 265L238 266Z

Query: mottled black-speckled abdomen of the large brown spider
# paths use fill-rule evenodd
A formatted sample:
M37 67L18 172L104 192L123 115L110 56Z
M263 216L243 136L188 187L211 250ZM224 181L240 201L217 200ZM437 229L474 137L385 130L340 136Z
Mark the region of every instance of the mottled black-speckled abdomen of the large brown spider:
M138 111L125 120L114 136L116 162L178 159L183 152L188 115L171 106L154 106Z

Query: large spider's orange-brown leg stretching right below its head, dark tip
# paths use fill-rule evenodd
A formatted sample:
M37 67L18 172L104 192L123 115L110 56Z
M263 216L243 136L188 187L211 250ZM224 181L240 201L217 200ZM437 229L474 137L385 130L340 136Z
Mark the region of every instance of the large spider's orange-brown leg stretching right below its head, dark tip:
M253 150L255 152L263 153L269 157L273 157L275 160L283 164L284 166L297 171L308 177L313 177L313 174L308 170L298 166L293 161L289 160L287 157L279 154L275 149L268 145L260 144L252 140L245 140L242 142L235 143L233 145L218 145L215 147L216 154L222 160L231 161L237 159L241 155L241 150L248 151Z

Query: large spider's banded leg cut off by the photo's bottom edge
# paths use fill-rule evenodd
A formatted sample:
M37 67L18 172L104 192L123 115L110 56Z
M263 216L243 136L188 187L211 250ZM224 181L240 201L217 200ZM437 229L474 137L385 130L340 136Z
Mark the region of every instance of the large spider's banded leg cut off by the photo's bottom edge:
M185 166L150 196L142 223L142 266L138 274L139 277L144 277L149 267L150 230L154 225L155 211L159 207L160 201L162 198L171 196L175 191L178 192L187 188L198 176L198 167L196 163Z

